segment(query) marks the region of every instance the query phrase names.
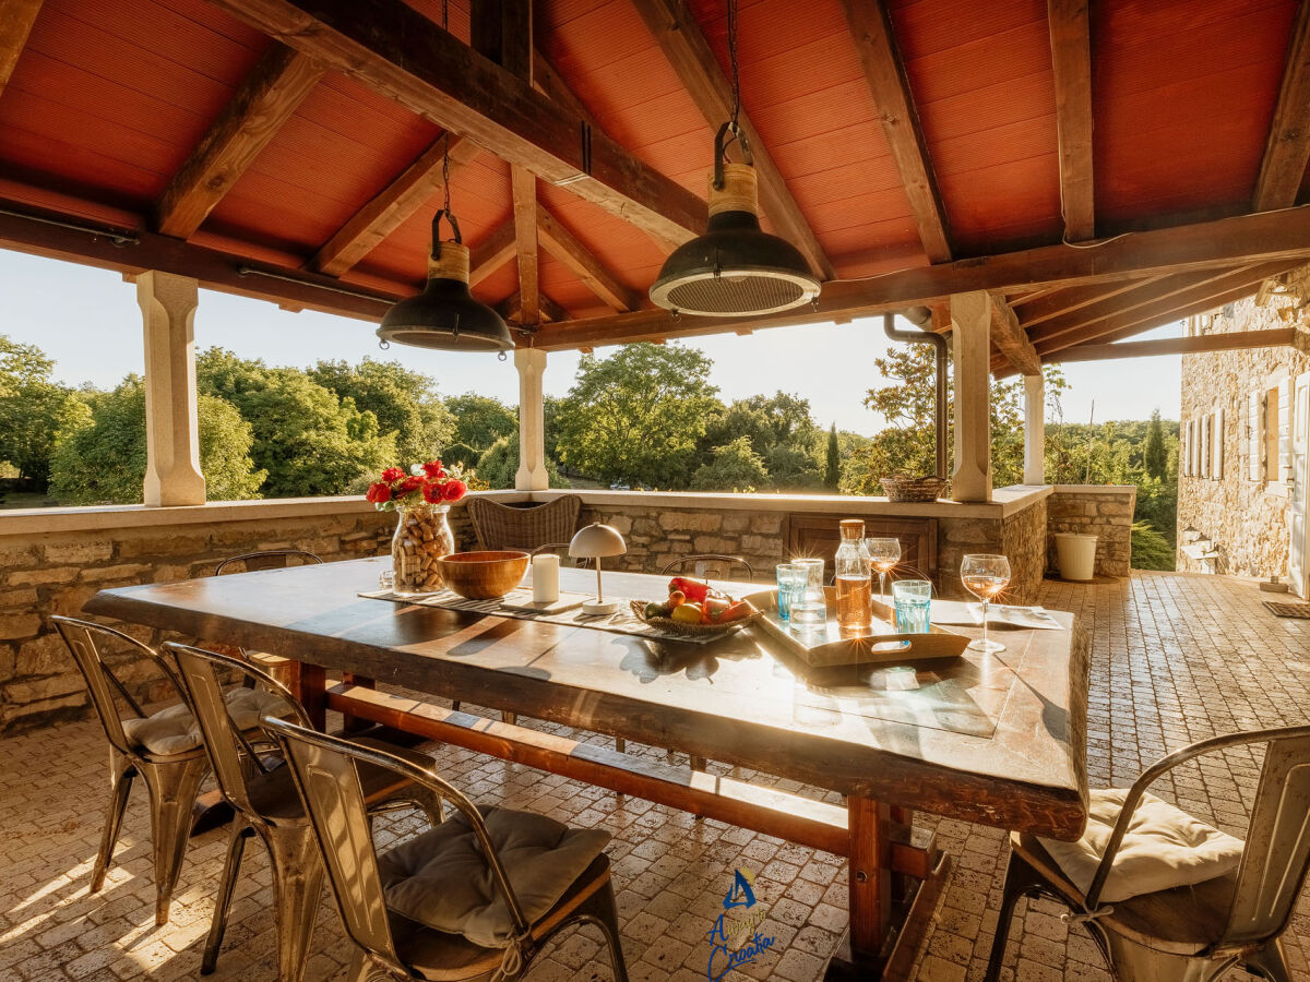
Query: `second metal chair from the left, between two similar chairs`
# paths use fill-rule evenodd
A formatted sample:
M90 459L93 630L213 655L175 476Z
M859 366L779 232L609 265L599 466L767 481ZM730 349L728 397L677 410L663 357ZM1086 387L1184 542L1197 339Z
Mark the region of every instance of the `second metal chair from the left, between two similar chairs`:
M204 735L204 749L223 797L236 812L200 974L214 972L217 962L245 843L250 837L258 835L269 850L272 867L279 978L283 982L300 982L322 888L322 860L288 769L270 769L246 736L233 725L215 669L233 669L278 693L291 706L291 715L301 725L310 727L309 718L286 686L248 661L172 642L164 649L177 659L183 698ZM386 746L396 754L427 759L422 754L392 748L381 741L369 742ZM376 767L362 778L369 814L392 808L418 807L427 812L434 824L441 821L440 799L426 787Z

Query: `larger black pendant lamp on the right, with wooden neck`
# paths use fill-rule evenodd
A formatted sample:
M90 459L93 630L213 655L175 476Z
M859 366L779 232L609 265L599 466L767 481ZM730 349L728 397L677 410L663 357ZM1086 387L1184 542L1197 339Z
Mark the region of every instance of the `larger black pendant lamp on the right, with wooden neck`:
M723 160L723 136L730 131L741 144L744 164ZM709 228L668 257L651 284L651 300L676 313L749 317L817 299L819 279L800 250L760 228L757 175L745 134L724 123L714 155Z

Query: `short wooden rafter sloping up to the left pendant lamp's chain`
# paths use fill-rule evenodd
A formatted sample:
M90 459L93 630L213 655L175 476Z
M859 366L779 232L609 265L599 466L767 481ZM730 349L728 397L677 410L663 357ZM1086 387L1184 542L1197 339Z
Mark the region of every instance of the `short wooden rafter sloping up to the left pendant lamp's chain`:
M414 212L441 190L441 158L447 135L423 151L394 181L341 227L307 266L329 276L346 270L373 251L384 238L406 223ZM462 136L449 136L451 174L473 161L482 148Z

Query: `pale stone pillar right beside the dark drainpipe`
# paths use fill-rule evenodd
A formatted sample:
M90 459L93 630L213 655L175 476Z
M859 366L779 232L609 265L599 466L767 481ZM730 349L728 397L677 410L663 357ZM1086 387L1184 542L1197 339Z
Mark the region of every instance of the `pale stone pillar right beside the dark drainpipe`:
M985 291L951 296L955 355L956 501L992 500L992 297Z

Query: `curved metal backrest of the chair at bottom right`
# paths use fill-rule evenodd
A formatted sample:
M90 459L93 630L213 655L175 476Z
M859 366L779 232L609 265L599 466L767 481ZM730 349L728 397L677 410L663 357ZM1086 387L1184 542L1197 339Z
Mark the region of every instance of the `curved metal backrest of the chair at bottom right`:
M1208 753L1237 746L1264 748L1264 766L1237 871L1237 889L1217 949L1258 944L1286 928L1310 868L1310 727L1259 729L1201 740L1161 758L1133 783L1106 854L1087 889L1095 910L1100 890L1142 793L1163 774Z

